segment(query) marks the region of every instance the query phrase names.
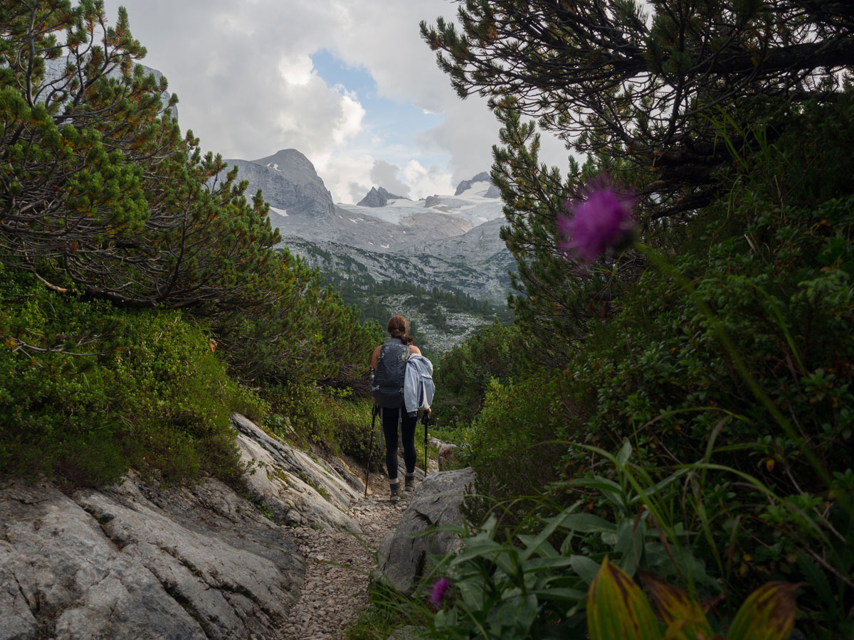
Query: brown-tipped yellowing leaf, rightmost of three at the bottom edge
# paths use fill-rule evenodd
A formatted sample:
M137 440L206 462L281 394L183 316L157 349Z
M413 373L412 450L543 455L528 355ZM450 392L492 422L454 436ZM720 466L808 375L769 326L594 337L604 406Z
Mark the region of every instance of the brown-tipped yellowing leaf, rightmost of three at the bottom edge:
M769 582L747 597L729 626L728 640L787 640L795 624L795 590Z

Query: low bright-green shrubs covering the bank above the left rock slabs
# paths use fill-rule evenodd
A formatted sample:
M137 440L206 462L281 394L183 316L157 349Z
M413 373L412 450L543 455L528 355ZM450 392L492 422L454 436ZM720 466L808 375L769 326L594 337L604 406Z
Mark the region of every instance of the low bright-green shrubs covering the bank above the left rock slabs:
M3 274L0 473L77 484L140 468L162 480L239 472L232 410L265 406L178 311L120 311Z

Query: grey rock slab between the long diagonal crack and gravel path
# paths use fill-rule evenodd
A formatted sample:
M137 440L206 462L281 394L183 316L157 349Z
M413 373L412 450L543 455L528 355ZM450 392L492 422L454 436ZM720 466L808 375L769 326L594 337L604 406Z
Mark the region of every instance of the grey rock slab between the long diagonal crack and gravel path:
M274 637L299 596L304 569L295 544L218 480L160 491L131 477L73 499L206 637Z

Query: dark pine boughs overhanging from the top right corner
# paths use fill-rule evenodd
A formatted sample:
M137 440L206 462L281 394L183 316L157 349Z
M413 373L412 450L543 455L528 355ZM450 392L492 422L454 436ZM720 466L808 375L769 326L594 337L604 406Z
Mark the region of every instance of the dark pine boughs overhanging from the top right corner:
M854 63L838 1L466 0L458 20L421 32L459 95L642 168L653 216L710 201L728 145L756 148L748 125L834 100Z

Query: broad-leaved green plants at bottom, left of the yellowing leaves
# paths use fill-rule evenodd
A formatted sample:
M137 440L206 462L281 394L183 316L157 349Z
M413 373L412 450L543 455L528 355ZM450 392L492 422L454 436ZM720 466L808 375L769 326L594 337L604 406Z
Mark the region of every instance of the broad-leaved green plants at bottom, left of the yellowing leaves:
M596 513L580 499L556 512L540 497L511 527L499 526L500 507L475 531L442 527L459 533L464 547L434 558L435 571L419 586L424 596L438 576L451 585L427 636L583 637L588 589L605 558L629 576L652 571L687 582L694 594L717 595L717 581L693 556L691 536L681 521L668 519L687 472L651 485L631 457L628 443L616 456L595 456L602 474L577 480L600 503Z

